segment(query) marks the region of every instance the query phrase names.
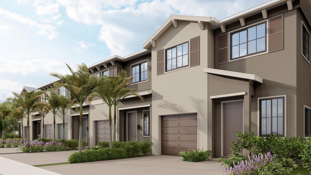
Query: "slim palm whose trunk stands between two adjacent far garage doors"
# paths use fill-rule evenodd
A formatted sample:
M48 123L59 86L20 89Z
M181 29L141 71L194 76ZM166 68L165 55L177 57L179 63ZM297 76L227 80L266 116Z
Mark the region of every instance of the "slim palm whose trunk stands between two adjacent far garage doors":
M53 113L53 141L56 141L55 139L55 115L59 111L60 105L61 105L61 96L56 94L52 89L44 92L45 93L45 100L49 102L49 105L51 106L51 112Z

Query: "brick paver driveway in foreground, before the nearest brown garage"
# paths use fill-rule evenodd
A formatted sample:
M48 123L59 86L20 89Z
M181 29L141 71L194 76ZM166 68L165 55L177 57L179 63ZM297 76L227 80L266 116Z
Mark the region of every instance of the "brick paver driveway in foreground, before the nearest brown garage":
M223 166L215 161L185 162L178 156L147 156L138 158L125 158L98 162L74 163L41 167L43 169L63 175L102 175L102 174L222 174Z

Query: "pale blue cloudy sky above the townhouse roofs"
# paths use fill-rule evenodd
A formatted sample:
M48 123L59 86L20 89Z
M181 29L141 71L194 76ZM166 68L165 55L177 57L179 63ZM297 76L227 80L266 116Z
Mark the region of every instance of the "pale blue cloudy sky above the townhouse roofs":
M171 16L220 20L268 0L0 0L0 102L77 64L142 50ZM181 3L182 2L182 3Z

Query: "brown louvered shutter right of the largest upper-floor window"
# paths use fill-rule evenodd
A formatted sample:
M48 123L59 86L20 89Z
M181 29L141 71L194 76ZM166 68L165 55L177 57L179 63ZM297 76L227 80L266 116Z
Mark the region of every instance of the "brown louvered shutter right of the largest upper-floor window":
M269 52L283 49L283 14L269 18Z

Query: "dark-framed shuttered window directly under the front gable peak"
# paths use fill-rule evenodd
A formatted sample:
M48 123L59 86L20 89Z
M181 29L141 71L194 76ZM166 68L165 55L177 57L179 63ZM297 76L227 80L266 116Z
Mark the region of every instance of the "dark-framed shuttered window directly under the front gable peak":
M166 50L166 71L189 65L188 42Z

